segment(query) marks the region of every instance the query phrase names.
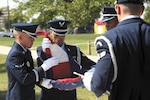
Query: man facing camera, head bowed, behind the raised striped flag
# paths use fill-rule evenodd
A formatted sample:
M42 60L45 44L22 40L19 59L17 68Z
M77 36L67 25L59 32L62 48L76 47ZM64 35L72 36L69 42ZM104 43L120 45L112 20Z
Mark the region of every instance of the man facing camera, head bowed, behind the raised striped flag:
M90 69L91 66L95 65L95 62L88 59L80 50L77 46L72 46L72 45L68 45L66 44L65 41L65 37L67 35L68 32L68 28L67 26L70 24L70 21L66 21L66 20L54 20L51 22L48 22L47 24L50 25L50 35L52 37L52 42L58 44L68 55L69 57L69 62L70 62L70 71L68 72L65 69L65 66L63 68L63 73L68 74L68 76L61 76L61 79L63 78L68 78L68 77L77 77L75 75L73 75L73 72L75 70L78 70L78 72L80 72L80 70L84 69ZM47 59L46 58L46 54L45 52L43 52L42 47L38 47L37 48L37 53L38 53L38 65L40 66L42 64L42 59ZM59 52L58 52L59 53ZM80 65L80 68L78 68L77 65ZM82 68L81 68L82 66ZM78 69L77 69L78 68ZM55 70L53 70L55 71ZM48 70L46 72L46 78L49 79L57 79L54 78L53 75L53 71L52 70ZM85 72L85 71L84 71ZM84 73L83 71L81 73ZM60 77L59 77L60 78ZM40 95L40 100L77 100L76 97L76 89L74 90L70 90L70 91L63 91L60 89L55 89L55 88L51 88L51 89L45 89L42 88L41 91L41 95Z

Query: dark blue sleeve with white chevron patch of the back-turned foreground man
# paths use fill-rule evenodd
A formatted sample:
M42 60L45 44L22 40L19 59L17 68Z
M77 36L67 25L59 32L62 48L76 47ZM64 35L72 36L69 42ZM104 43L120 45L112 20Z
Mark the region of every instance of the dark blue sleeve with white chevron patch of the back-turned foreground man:
M110 89L113 79L113 63L105 41L96 39L95 46L99 60L95 66L95 72L91 80L91 90L99 97L106 90Z

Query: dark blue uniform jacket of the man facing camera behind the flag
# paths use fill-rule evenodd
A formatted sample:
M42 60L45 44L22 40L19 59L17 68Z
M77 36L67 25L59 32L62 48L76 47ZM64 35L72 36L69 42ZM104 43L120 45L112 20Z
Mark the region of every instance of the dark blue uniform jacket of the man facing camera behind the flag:
M66 53L68 54L69 62L71 65L71 71L72 71L71 73L72 74L70 75L70 77L77 77L77 76L73 75L74 71L83 74L87 69L90 69L90 67L92 65L95 65L95 62L88 59L80 51L79 53L81 56L81 65L83 67L82 69L80 69L79 65L74 61L74 60L77 60L77 47L65 44L65 50L66 50ZM37 59L37 62L38 62L38 65L40 66L42 63L40 60L40 57L42 57L42 59L47 59L47 55L45 55L45 53L42 52L41 47L37 48L37 53L39 56L39 58ZM65 73L65 69L64 69L64 73ZM46 77L53 79L52 70L48 70L46 72ZM76 90L63 91L63 90L54 89L54 88L49 89L49 90L42 88L40 100L77 100Z

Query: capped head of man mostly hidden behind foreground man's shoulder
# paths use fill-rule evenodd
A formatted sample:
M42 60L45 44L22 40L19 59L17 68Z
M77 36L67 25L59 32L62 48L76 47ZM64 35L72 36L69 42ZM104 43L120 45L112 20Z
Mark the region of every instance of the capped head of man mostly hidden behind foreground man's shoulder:
M114 7L104 6L102 9L102 21L105 22L107 30L110 30L118 24L117 14Z

